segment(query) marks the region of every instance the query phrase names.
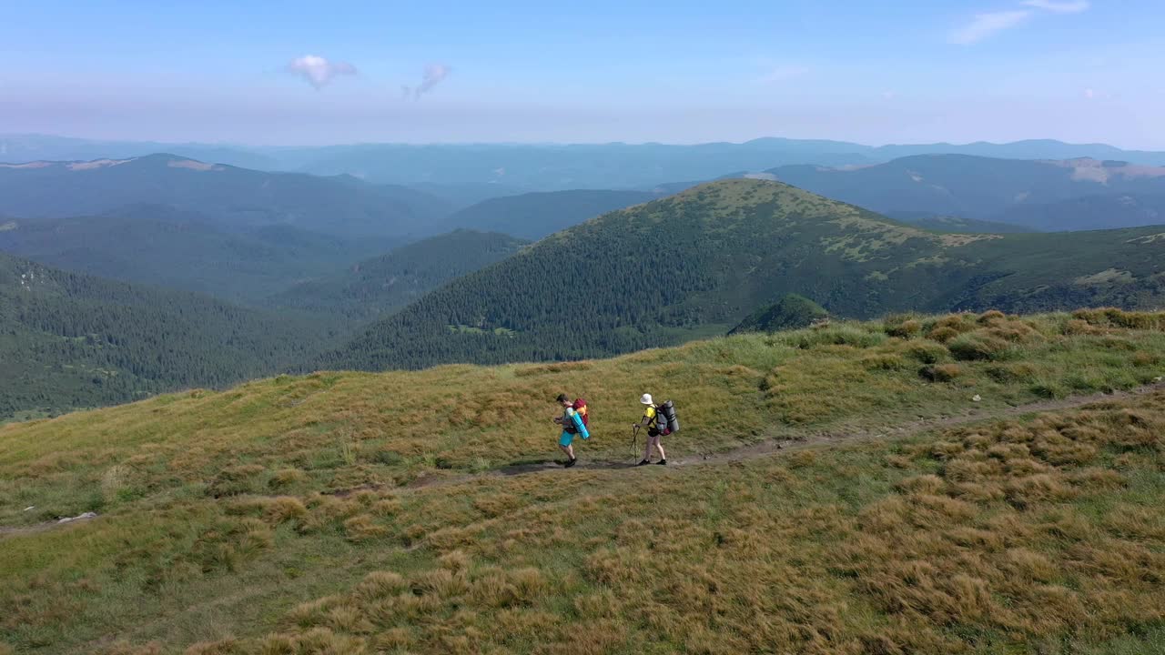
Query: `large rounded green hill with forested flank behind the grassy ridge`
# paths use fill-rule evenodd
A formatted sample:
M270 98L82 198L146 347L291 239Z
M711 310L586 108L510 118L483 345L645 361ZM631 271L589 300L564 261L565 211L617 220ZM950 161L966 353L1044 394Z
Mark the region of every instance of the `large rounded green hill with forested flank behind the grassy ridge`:
M560 360L723 333L800 294L835 316L1160 307L1162 228L939 234L778 182L603 214L421 298L318 366Z

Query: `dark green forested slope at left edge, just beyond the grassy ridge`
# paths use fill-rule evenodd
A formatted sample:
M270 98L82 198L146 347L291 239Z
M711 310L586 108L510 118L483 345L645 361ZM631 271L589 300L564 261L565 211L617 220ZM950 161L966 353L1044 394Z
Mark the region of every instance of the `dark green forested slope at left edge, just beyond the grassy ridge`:
M287 317L0 254L0 420L234 383L323 344Z

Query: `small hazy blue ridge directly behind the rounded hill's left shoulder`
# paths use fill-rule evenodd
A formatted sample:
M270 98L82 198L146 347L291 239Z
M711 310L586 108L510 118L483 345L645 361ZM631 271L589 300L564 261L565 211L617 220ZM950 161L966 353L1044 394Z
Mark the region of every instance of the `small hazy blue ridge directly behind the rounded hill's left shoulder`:
M466 207L443 221L451 228L469 228L542 239L594 218L658 198L649 191L551 191L490 198Z

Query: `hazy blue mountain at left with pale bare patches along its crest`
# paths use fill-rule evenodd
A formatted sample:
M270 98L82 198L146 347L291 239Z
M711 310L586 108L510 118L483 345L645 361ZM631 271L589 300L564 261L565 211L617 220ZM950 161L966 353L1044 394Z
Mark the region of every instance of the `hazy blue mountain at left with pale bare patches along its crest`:
M0 164L0 213L101 214L126 205L170 205L228 228L289 225L343 237L424 233L443 203L403 186L350 177L262 172L175 155L93 162Z

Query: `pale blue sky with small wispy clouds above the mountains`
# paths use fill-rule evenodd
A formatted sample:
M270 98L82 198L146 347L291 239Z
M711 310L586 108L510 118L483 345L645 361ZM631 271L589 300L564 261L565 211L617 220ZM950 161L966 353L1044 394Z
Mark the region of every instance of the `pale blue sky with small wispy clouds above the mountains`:
M1159 0L556 5L0 0L0 133L1165 148Z

